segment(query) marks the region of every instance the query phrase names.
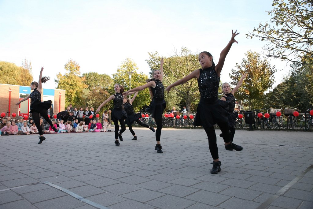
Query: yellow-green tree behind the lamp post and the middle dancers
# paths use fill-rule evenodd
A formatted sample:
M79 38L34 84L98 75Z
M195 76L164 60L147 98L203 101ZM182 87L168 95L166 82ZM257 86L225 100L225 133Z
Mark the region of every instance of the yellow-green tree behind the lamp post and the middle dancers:
M113 74L113 81L114 83L118 83L121 86L124 86L125 91L130 89L129 86L129 76L127 72L134 72L131 75L131 87L135 88L137 86L141 86L146 84L146 80L148 76L145 75L143 72L138 72L137 64L127 58L124 60L119 68L116 70L116 73ZM110 93L114 94L114 85L110 86ZM139 112L142 107L149 105L150 103L150 94L149 90L145 89L143 91L139 91L135 101L133 102L133 107L135 112Z

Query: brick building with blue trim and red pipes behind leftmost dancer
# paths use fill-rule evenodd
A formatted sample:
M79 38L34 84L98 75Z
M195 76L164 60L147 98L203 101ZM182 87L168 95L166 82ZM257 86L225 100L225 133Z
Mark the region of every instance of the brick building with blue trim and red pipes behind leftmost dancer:
M29 115L29 106L31 99L22 102L19 106L15 104L31 93L29 86L17 86L9 84L0 84L0 112L9 112L7 115L11 116L12 113L17 115ZM42 89L41 100L52 101L52 108L54 114L65 109L65 90L62 89Z

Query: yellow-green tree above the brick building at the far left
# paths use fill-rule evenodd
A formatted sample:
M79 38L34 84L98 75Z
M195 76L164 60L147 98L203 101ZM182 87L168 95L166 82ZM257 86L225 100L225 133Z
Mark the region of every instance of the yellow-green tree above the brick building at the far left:
M0 83L29 86L33 82L33 75L28 69L14 63L0 61Z

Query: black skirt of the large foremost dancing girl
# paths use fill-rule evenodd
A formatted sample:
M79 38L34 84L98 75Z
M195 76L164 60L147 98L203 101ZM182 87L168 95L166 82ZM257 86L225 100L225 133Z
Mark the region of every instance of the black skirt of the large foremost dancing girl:
M213 127L216 123L227 123L230 113L225 109L226 104L225 101L219 99L214 102L207 102L201 98L193 125L209 128Z

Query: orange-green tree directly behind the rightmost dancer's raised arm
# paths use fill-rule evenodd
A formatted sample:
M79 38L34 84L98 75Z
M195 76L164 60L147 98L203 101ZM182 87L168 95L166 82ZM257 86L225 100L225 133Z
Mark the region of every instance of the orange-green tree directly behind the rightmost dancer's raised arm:
M236 98L247 102L250 110L263 108L264 92L274 84L275 66L271 66L266 60L261 60L256 52L248 51L245 55L247 59L243 58L240 65L236 63L237 69L231 70L230 84L236 86L242 74L247 73L247 77L236 93Z

